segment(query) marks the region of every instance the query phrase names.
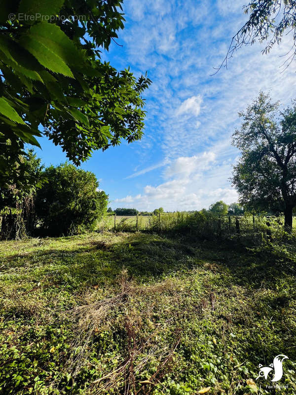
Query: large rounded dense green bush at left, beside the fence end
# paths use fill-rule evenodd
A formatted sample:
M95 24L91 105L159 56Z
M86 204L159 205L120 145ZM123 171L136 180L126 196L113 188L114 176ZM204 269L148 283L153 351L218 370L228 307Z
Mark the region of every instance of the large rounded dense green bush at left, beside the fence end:
M44 171L48 184L37 191L38 228L48 236L73 235L94 229L107 210L108 196L96 176L70 163Z

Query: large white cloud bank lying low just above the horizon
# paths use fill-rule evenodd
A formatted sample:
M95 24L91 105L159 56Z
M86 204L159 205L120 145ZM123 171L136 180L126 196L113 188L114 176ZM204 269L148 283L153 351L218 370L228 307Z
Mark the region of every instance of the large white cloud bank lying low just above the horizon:
M208 208L217 200L227 204L237 201L237 194L227 180L231 163L216 160L224 149L222 142L198 155L171 160L163 171L164 182L146 185L142 194L116 199L114 203L124 202L127 207L139 210L162 206L166 211L177 211Z

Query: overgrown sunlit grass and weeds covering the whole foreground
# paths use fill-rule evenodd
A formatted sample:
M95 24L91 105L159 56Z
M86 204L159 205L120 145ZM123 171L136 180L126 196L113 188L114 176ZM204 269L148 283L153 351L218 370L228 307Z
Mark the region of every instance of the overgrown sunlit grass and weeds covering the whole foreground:
M1 394L295 394L295 268L104 233L0 242ZM269 389L259 363L285 354Z

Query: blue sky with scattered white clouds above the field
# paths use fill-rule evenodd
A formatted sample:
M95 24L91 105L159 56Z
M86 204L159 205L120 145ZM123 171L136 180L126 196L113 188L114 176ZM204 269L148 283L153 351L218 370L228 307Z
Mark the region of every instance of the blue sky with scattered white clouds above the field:
M229 177L239 151L231 135L239 111L260 90L282 106L296 98L295 64L282 66L291 38L267 55L264 44L242 47L216 75L232 36L246 21L240 0L125 0L125 29L102 59L135 76L148 72L145 135L141 141L96 151L80 167L92 171L110 206L150 211L200 210L238 200ZM294 62L295 63L295 62ZM47 166L66 160L41 138Z

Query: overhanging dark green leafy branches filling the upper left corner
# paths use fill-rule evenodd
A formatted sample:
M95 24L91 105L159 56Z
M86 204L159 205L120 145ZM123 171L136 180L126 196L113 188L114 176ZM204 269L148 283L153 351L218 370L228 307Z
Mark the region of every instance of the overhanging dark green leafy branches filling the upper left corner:
M76 165L93 150L141 138L142 93L151 81L101 60L101 51L108 50L124 27L121 4L122 0L1 1L2 185L23 154L24 143L39 145L37 136L60 145Z

